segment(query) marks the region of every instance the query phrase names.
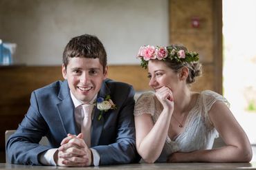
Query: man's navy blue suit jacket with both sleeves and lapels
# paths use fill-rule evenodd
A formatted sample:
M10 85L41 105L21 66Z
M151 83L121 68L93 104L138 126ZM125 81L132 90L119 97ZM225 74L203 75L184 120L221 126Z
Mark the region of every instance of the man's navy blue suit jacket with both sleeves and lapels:
M98 97L111 96L116 109L104 112L94 107L91 148L100 154L100 164L138 162L134 127L134 89L131 85L107 79ZM67 134L79 134L74 105L67 81L56 81L31 94L28 112L6 145L8 160L15 164L38 164L39 154L60 147ZM39 145L46 136L50 145Z

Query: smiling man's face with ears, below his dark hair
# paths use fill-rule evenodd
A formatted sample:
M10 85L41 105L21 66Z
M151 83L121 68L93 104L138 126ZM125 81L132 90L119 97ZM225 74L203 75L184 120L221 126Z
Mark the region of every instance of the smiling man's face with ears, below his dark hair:
M99 59L73 57L66 68L62 65L62 75L75 98L85 104L100 91L102 81L107 78L107 67L103 73Z

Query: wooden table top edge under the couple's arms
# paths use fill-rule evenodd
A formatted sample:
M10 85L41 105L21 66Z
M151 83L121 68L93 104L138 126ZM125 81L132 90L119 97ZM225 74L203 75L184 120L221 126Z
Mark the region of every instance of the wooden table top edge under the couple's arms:
M152 170L152 169L256 169L256 162L250 163L158 163L158 164L120 164L120 165L108 165L100 167L51 167L51 166L30 166L21 164L6 164L1 163L0 169L140 169L140 170Z

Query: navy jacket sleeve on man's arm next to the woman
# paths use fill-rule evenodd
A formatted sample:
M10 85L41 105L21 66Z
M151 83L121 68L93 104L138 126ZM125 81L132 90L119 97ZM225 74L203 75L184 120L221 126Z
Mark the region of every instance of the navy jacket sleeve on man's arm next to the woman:
M122 96L122 95L121 95ZM124 96L122 96L124 98ZM93 147L100 154L100 164L138 162L134 125L134 89L130 86L117 118L117 132L113 143ZM118 104L119 106L120 104Z

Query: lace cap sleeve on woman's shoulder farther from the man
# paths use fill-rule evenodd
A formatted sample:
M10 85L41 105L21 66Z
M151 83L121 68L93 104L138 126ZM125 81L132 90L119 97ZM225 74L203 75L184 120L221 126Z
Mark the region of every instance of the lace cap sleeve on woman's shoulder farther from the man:
M212 108L212 105L216 101L221 101L225 103L228 107L230 107L230 103L228 103L228 100L226 98L224 98L220 94L217 94L216 92L213 92L211 90L203 91L202 96L203 96L203 105L207 112Z

